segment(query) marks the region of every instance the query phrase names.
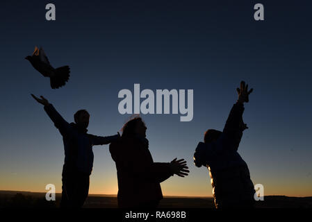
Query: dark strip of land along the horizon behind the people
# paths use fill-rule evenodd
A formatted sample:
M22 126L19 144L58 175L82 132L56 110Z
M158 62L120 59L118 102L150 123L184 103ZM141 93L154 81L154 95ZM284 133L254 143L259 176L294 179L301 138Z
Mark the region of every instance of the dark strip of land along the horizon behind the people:
M56 201L45 200L45 193L24 191L0 191L0 208L54 208L60 203L60 194L56 194ZM115 195L90 194L84 207L115 208ZM214 208L211 197L174 197L165 196L160 208ZM312 197L265 196L263 201L256 202L257 208L312 208Z

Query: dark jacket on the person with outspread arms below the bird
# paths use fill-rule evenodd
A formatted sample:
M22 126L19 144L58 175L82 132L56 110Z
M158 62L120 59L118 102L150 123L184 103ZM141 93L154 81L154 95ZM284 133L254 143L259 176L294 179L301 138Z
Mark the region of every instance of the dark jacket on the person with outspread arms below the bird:
M65 173L80 171L90 175L94 159L92 146L109 144L120 137L119 135L99 137L88 134L87 129L79 128L76 123L67 123L51 104L45 105L44 110L63 136L65 151L63 172Z

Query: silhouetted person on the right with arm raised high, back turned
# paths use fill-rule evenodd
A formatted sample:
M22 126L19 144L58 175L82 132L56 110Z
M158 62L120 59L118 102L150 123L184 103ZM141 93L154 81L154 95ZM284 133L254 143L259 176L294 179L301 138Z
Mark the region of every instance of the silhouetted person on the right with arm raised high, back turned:
M208 167L216 208L254 206L254 185L246 162L238 154L238 146L247 125L243 122L244 103L248 103L248 85L240 83L238 101L224 126L223 132L209 129L204 143L199 142L194 162L197 167Z

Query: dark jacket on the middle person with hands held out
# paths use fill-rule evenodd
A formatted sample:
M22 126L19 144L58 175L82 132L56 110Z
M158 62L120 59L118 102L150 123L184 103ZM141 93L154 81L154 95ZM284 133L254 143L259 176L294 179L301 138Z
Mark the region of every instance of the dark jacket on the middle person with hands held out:
M122 137L110 144L118 178L118 207L144 207L163 198L160 183L173 173L170 163L154 162L148 140Z

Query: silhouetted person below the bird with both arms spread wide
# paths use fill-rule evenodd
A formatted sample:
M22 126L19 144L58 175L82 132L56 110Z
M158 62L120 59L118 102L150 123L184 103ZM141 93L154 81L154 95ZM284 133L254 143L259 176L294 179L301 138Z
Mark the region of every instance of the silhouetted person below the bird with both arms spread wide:
M86 110L79 110L74 114L75 123L67 123L43 96L40 96L41 99L33 94L31 96L44 105L44 110L63 136L65 161L60 207L82 207L89 192L94 157L92 146L109 144L120 139L120 135L99 137L88 134L90 114Z

